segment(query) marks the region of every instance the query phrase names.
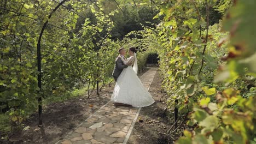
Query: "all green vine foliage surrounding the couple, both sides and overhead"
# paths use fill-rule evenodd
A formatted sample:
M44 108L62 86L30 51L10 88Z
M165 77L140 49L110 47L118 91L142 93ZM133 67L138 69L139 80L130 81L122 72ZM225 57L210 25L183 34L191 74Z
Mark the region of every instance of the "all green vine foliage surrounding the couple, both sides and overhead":
M176 143L255 143L254 1L119 0L97 1L98 7L67 1L80 16L62 7L49 20L41 43L40 93L37 39L56 3L6 2L0 11L1 129L19 125L38 96L64 101L89 80L92 87L106 83L119 47L134 46L139 71L158 53L168 108L190 112L193 130Z

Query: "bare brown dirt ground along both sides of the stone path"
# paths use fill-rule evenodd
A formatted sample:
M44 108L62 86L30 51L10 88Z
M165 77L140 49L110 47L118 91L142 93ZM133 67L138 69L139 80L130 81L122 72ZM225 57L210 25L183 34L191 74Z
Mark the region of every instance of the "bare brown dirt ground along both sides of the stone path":
M144 71L144 73L146 71ZM166 96L165 93L162 92L161 82L159 73L157 72L149 89L149 92L153 95L156 102L151 106L141 109L130 139L127 142L128 144L167 144L173 143L173 140L176 140L182 135L182 130L178 130L178 133L166 136L167 130L172 126L173 119L172 113L166 116L164 112L166 104L163 102L165 100L161 101L161 99L166 99ZM114 82L112 82L112 87L107 86L103 88L99 96L94 92L90 99L88 99L86 95L69 99L65 102L64 108L61 102L46 105L43 111L42 128L38 128L38 117L37 114L34 114L24 122L24 125L29 127L26 131L14 131L14 133L10 134L8 141L0 140L0 143L55 143L63 139L76 125L79 125L92 115L92 113L106 104L112 95L113 87ZM172 137L171 140L170 137Z

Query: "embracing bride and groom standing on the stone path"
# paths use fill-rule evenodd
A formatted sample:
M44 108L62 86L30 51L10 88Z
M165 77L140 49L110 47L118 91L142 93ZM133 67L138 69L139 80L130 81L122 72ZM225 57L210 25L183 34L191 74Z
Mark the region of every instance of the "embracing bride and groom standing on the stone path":
M142 85L137 76L138 65L135 47L130 47L129 58L125 58L124 47L119 49L120 55L115 59L113 77L116 81L111 97L114 104L126 104L133 107L144 107L153 104L155 101L152 95ZM133 65L133 67L132 67Z

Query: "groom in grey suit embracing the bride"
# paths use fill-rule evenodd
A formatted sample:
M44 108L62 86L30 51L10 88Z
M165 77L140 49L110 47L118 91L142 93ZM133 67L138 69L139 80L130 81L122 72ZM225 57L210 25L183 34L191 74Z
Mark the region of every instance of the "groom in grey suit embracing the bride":
M112 73L112 76L114 77L115 81L117 81L117 79L118 79L119 75L122 73L123 69L128 67L128 65L125 65L122 61L122 58L125 59L124 55L126 53L124 47L121 47L119 49L119 53L120 53L120 55L117 57L117 59L115 59L115 68Z

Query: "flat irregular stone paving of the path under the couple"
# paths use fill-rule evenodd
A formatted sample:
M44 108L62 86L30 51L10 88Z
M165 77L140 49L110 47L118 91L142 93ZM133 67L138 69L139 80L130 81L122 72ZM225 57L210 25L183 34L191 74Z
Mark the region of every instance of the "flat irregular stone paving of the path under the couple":
M140 77L147 89L155 73L156 68L150 68ZM140 110L135 107L115 107L109 101L56 144L126 143Z

